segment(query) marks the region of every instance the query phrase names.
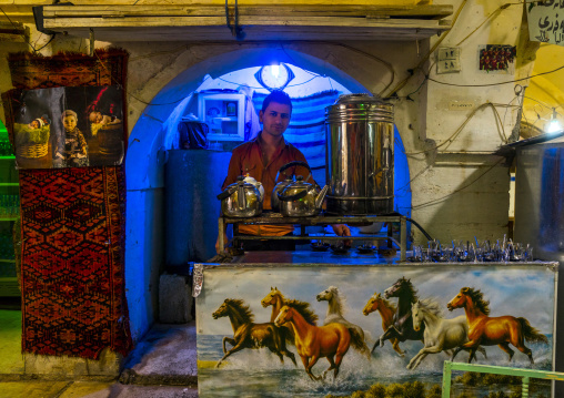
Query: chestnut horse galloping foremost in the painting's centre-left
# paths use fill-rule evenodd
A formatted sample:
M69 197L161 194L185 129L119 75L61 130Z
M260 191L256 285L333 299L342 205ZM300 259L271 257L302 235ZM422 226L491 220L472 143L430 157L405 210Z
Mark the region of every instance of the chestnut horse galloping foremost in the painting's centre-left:
M314 376L312 367L322 357L328 358L330 367L323 373L323 378L328 371L334 369L333 380L339 375L339 367L343 356L351 345L351 334L343 324L329 324L324 326L314 326L309 324L298 310L292 307L283 306L274 319L276 326L290 324L294 329L295 348L302 358L305 373L312 380L320 380L322 377Z

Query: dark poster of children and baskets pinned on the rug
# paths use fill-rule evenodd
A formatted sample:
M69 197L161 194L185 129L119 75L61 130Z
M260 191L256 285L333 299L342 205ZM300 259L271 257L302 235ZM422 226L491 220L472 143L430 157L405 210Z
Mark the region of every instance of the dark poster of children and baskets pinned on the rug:
M117 85L22 91L13 99L18 169L119 165L125 150Z

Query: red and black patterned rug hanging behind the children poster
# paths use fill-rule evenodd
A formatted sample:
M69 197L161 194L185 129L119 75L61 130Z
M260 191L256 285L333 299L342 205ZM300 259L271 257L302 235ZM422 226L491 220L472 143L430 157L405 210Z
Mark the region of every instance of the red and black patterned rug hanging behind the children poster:
M110 50L94 57L18 53L8 61L16 90L32 90L124 86L127 59L127 52ZM12 95L2 95L9 131ZM123 166L19 174L22 350L97 359L110 348L125 356L132 341L124 284Z

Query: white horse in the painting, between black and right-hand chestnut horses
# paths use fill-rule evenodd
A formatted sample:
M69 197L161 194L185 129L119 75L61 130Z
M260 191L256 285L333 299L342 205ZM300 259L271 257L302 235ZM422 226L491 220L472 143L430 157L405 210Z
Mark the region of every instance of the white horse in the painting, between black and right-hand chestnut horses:
M453 319L445 319L442 316L441 308L432 299L417 300L411 305L411 316L413 317L413 329L417 331L421 323L425 325L423 331L423 347L407 365L407 369L415 369L429 354L439 354L462 346L469 341L469 323L465 315ZM485 349L477 349L486 357Z

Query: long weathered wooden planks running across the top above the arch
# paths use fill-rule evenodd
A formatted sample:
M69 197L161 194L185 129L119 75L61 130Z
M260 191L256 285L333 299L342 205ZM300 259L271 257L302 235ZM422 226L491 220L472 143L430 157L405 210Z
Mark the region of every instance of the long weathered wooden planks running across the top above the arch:
M244 41L419 40L449 30L452 6L244 6L239 24ZM47 29L88 38L93 28L103 41L235 40L222 6L46 6L43 16Z

